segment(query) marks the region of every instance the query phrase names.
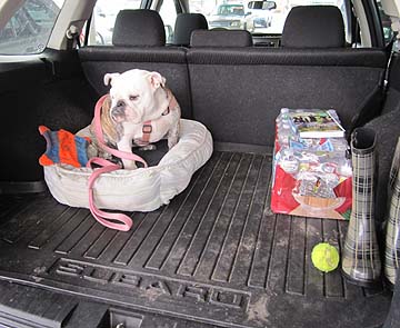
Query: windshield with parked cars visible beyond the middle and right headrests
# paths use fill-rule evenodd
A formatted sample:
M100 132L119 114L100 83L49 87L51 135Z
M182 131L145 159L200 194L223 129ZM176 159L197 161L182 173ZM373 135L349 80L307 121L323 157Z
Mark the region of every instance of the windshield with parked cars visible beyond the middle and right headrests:
M241 1L218 2L216 6L214 1L189 0L189 9L204 14L211 29L246 29L252 33L281 34L291 8L306 4L337 6L343 14L347 39L350 39L344 1L347 0L256 0L246 2L247 6Z

